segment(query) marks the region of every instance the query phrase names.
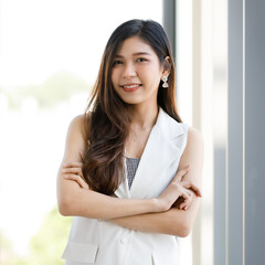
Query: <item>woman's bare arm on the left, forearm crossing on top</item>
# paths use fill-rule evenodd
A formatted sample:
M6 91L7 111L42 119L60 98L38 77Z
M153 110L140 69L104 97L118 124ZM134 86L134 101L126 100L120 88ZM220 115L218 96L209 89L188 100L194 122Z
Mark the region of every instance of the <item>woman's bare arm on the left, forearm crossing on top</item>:
M72 161L81 162L80 152L85 149L83 116L70 125L65 153L57 173L57 203L63 215L92 219L116 219L150 212L167 211L182 193L178 186L156 199L129 200L108 197L89 189L82 189L76 181L64 178L63 166Z

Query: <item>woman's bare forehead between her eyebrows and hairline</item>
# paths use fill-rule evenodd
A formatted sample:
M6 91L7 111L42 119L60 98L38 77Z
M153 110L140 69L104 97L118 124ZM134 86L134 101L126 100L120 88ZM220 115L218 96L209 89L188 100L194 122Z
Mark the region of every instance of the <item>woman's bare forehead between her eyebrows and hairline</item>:
M151 45L149 45L139 36L131 36L126 39L117 51L117 55L120 56L132 55L137 53L148 53L152 56L157 55Z

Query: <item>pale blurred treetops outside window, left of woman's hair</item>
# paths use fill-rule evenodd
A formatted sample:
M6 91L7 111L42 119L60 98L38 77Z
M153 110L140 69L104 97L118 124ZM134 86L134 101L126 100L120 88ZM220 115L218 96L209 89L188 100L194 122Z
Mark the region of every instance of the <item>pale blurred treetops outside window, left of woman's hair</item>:
M67 100L76 93L89 93L88 83L74 74L60 72L53 74L41 85L12 87L3 91L11 108L18 108L24 97L34 97L40 107L52 107L59 102Z

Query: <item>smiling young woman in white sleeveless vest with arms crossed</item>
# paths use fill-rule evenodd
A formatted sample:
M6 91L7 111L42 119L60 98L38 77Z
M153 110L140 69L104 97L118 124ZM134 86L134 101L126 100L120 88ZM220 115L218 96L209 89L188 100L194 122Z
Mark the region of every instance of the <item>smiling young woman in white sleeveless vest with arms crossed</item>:
M114 31L57 174L59 210L75 216L67 265L178 264L177 239L199 209L203 142L181 123L174 85L159 23L131 20Z

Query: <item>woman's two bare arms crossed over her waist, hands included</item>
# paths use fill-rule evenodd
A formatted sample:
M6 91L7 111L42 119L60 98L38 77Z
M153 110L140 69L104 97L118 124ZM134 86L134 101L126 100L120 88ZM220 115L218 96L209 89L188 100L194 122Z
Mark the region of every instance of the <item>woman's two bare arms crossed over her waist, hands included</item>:
M190 233L200 204L198 187L201 187L203 162L203 144L198 131L189 130L188 144L179 165L181 170L174 181L158 198L139 200L118 199L92 191L81 176L73 174L74 170L81 168L76 165L82 165L80 152L85 148L84 139L83 117L80 116L70 126L57 174L59 210L63 215L104 219L141 232L178 236ZM184 167L187 165L191 165L191 168ZM178 208L172 206L181 197L186 199L184 202Z

